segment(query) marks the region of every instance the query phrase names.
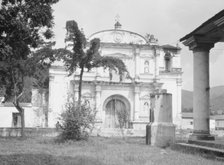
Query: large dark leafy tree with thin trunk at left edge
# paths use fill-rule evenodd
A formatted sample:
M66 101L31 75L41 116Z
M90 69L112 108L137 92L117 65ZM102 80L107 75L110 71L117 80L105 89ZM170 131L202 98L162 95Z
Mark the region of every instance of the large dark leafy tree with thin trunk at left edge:
M52 5L57 2L58 0L1 2L0 87L5 90L5 101L12 101L21 115L21 136L24 136L25 121L20 98L24 93L25 78L35 78L37 68L48 65L45 59L53 58L49 57L52 54L37 56L31 52L43 46L50 49L45 41L53 36Z

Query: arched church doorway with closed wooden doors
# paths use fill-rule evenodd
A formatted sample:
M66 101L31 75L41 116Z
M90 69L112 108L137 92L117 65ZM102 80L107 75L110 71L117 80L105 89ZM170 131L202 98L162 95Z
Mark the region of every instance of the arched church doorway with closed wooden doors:
M130 105L123 96L111 96L105 101L105 128L128 128Z

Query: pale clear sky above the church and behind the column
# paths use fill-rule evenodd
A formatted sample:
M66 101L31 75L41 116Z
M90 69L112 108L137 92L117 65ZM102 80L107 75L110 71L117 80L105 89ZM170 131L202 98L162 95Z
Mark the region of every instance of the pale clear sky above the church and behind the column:
M224 0L60 0L54 9L56 46L64 47L65 23L75 20L86 37L114 28L116 16L122 29L153 34L160 45L182 48L182 88L193 90L193 53L179 39L224 9ZM224 85L224 43L210 51L210 86Z

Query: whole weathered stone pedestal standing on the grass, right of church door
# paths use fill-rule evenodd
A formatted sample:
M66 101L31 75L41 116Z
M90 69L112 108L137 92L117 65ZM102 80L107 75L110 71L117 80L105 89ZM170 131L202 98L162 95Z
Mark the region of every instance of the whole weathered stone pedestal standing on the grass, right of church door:
M172 95L155 94L154 122L151 125L151 145L166 147L175 140L175 125L172 122Z

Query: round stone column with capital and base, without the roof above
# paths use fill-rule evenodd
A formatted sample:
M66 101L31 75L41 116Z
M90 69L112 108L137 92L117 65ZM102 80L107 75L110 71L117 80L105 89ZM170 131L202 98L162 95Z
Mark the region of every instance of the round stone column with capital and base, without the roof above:
M194 54L194 131L189 140L214 140L209 131L209 50L214 44L198 44Z

